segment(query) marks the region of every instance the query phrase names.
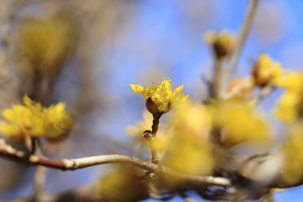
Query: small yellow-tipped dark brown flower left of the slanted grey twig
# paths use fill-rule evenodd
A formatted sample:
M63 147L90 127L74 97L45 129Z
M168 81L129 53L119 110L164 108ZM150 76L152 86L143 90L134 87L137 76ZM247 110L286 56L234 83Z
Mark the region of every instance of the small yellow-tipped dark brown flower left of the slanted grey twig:
M226 56L235 47L235 36L228 30L207 31L204 35L204 41L212 45L217 58Z

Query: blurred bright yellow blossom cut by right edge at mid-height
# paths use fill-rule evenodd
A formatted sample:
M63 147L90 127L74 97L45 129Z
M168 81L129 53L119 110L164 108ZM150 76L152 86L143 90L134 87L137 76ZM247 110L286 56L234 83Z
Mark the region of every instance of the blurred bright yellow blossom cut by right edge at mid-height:
M277 101L274 115L286 123L297 121L303 115L303 73L289 72L278 83L285 92Z

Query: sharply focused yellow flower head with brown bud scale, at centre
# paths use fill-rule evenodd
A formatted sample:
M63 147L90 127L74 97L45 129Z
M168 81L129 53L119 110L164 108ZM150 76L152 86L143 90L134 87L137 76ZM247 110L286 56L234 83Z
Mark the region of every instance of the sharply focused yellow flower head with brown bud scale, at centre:
M146 108L151 114L159 114L162 112L165 114L171 110L173 106L184 103L188 98L187 95L180 99L181 95L179 93L183 90L184 85L176 88L172 93L170 80L168 80L168 78L164 78L161 85L156 85L155 82L153 84L154 85L149 88L146 86L143 88L140 85L130 84L135 93L141 93L144 95ZM179 102L176 103L178 100Z

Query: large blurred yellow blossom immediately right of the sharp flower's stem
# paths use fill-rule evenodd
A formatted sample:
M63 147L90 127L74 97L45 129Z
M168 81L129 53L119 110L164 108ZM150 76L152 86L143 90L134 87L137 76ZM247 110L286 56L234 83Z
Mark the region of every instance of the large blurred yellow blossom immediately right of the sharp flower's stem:
M209 175L215 165L208 141L211 117L202 104L187 101L168 115L169 139L163 162L177 171Z

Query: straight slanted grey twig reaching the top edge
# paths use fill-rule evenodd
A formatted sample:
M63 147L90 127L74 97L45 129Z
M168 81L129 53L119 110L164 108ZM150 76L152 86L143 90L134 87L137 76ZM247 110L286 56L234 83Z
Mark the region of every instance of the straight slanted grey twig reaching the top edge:
M223 78L222 85L220 87L220 97L224 96L224 94L227 91L228 83L231 79L231 74L232 74L232 72L235 68L235 65L236 65L237 61L238 61L239 55L241 53L241 50L242 50L243 45L245 43L245 40L248 36L248 32L250 31L252 21L254 19L254 16L255 16L255 13L256 13L259 2L260 2L260 0L251 0L250 4L248 5L246 15L245 15L245 19L242 23L241 30L240 30L240 33L238 35L238 40L237 40L235 49L231 52L229 66L228 66L227 72L226 72L226 74Z

